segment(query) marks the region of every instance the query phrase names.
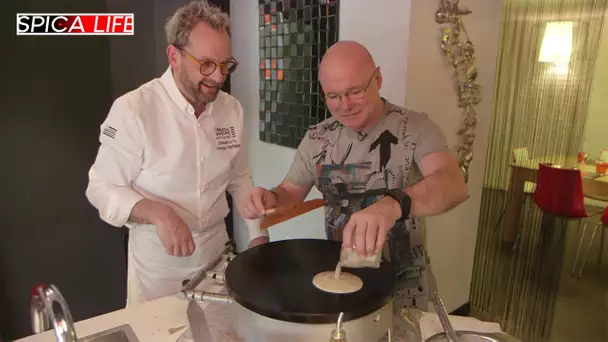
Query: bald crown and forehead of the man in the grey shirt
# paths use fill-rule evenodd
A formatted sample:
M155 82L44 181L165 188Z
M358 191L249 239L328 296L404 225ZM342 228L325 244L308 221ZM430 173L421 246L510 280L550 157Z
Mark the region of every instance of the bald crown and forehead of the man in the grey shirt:
M332 80L345 74L367 74L376 68L374 58L365 46L353 41L332 45L321 60L319 79Z

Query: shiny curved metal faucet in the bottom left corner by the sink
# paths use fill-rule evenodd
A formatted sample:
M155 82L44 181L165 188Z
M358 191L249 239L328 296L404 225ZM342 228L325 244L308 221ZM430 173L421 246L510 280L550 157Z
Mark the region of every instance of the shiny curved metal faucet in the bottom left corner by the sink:
M38 285L32 291L30 318L34 334L55 330L57 342L77 342L74 321L65 299L54 286Z

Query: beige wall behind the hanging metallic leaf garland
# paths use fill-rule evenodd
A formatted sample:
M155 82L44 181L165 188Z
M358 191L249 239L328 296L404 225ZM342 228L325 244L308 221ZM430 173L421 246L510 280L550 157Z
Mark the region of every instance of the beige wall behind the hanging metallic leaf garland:
M453 148L462 116L456 105L452 69L440 53L439 25L434 21L438 3L439 1L412 1L406 105L427 112L442 128ZM469 170L471 197L455 210L426 220L432 267L448 310L459 307L469 299L481 186L492 117L502 6L500 0L462 0L460 3L473 11L464 22L477 51L478 83L483 89L483 102L477 108L475 157Z

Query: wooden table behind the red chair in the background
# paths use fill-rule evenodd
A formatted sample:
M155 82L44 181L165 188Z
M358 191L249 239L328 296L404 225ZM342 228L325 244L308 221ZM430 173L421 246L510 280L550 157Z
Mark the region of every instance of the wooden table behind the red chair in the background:
M564 160L565 163L557 162ZM510 164L511 180L509 183L509 188L507 189L505 221L502 226L502 237L504 242L514 243L517 239L517 234L519 233L519 221L521 219L522 203L525 196L524 184L526 182L536 183L538 178L539 164L541 163L553 163L569 167L578 167L583 175L583 194L585 194L585 196L587 196L586 193L591 193L591 191L585 191L586 189L595 188L596 184L594 183L597 183L596 179L603 181L603 179L606 178L606 182L608 182L607 176L600 176L596 173L595 165L578 164L576 157L534 158L528 159L521 163ZM608 195L606 195L606 197L593 196L592 198L595 200L608 202Z

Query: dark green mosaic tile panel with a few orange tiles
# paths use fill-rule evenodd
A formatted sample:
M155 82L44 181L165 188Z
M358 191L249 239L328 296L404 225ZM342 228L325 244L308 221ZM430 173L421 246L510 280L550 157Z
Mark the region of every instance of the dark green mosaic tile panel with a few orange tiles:
M329 116L319 62L338 41L339 0L259 0L260 140L297 148Z

